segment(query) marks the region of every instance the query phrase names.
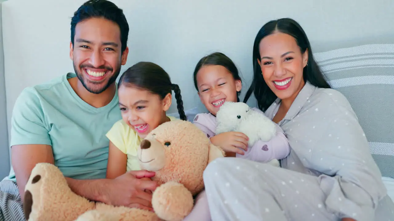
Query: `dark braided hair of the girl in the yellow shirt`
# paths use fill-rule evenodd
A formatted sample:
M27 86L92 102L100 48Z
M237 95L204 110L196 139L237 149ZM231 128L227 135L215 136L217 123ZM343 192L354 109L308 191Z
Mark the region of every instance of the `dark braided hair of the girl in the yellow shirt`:
M119 79L118 88L123 84L149 90L153 94L158 94L162 99L168 93L172 94L171 92L174 90L179 117L182 120L187 120L179 86L171 83L170 76L157 64L152 62L134 64L122 74Z

